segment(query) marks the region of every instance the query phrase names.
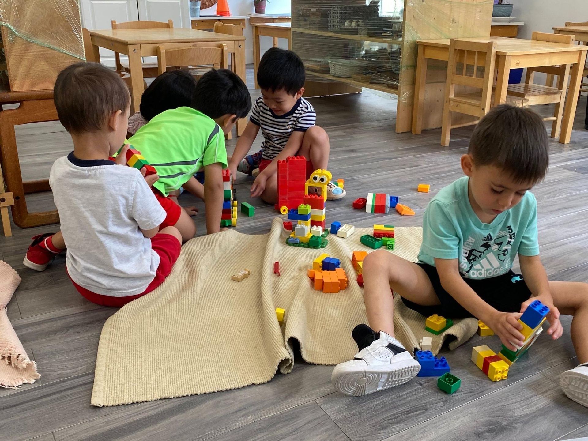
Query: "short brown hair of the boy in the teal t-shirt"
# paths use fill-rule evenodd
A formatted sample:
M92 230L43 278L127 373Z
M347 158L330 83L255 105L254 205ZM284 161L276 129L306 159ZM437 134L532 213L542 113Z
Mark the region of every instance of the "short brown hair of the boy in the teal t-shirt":
M477 123L467 153L475 165L499 167L516 182L539 182L549 166L543 119L530 109L496 106Z

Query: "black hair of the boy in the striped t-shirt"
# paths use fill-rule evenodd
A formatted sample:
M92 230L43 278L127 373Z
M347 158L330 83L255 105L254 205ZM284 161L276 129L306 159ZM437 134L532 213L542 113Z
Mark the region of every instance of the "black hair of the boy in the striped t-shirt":
M263 54L258 68L259 87L272 92L285 91L289 95L304 86L304 63L295 52L270 48Z

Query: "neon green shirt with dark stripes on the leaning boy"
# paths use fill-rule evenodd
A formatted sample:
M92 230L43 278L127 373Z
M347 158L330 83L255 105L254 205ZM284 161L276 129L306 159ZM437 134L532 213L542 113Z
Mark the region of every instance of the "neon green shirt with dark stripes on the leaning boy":
M179 189L207 165L227 166L225 134L208 116L190 107L153 117L129 138L133 148L155 167L153 184L164 196Z

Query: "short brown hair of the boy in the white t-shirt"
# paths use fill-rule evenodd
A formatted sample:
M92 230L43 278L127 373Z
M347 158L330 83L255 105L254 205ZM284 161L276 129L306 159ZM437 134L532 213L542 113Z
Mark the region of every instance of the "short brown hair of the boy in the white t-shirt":
M129 89L116 72L98 63L76 63L59 72L54 100L69 133L101 131L113 112L125 112Z

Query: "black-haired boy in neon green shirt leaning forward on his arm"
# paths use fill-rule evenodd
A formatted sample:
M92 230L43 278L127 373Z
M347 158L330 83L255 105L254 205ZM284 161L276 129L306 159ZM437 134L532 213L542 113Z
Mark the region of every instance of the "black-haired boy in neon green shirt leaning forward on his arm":
M191 107L159 113L129 139L159 176L153 192L167 213L161 228L175 226L184 242L194 237L194 222L170 193L182 186L199 193L200 184L193 175L204 169L206 232L220 230L222 169L228 162L224 135L250 109L251 98L242 79L228 69L212 69L196 83Z

